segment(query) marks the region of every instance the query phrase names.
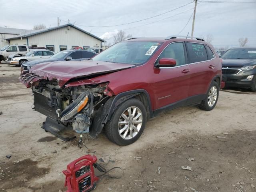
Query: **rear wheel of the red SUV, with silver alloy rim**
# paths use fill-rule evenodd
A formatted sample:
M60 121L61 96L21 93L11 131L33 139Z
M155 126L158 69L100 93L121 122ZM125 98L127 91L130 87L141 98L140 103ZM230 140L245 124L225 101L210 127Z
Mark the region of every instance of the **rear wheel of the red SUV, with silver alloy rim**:
M217 82L212 82L210 88L206 94L206 98L202 100L201 104L199 104L199 108L202 110L210 111L214 109L217 104L219 97L219 86Z

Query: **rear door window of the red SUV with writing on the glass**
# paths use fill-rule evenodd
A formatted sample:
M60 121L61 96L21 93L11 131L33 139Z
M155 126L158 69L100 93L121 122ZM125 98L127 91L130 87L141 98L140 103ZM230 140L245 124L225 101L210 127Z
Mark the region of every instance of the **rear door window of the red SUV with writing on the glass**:
M203 44L186 43L188 52L188 63L196 63L208 60L206 49Z

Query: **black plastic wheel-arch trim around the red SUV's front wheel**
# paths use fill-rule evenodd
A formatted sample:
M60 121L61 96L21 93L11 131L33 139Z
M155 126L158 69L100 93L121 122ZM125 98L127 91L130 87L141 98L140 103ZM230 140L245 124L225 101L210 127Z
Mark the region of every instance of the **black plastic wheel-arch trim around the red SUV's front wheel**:
M149 109L148 116L149 118L152 118L153 113L151 109L151 101L150 101L149 94L146 90L138 89L138 90L122 92L115 97L110 97L104 104L104 107L99 109L94 114L92 125L90 126L90 132L89 132L90 136L95 139L98 136L98 134L100 134L104 125L110 120L112 114L121 103L142 93L144 93L147 97L147 105L148 105L147 107Z

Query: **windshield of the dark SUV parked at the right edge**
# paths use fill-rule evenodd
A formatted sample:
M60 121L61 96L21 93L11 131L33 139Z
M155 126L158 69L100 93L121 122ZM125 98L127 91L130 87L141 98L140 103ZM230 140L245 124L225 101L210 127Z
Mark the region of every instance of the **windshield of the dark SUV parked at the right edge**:
M256 49L230 49L227 50L220 58L226 59L256 59Z

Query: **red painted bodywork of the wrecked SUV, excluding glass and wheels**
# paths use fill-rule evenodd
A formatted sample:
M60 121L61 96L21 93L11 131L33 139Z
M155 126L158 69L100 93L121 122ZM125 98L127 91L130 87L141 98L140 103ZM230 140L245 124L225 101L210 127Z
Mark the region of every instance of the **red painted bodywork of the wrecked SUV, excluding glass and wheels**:
M136 41L136 39L129 41ZM186 102L186 98L190 96L206 94L216 76L219 76L221 80L221 59L215 51L213 51L215 58L212 60L172 68L154 67L156 59L168 44L172 42L202 44L202 41L177 38L170 40L144 38L140 41L156 41L163 42L163 44L145 64L139 66L98 61L79 61L76 63L72 61L71 64L65 61L42 66L37 65L32 73L40 76L37 76L35 81L40 80L40 78L48 78L49 80L56 78L59 86L65 87L109 82L108 88L112 90L114 95L130 90L143 89L150 96L152 110L180 100ZM203 43L212 48L210 44ZM212 50L214 49L212 48ZM90 78L94 74L98 74L98 76ZM76 77L85 78L68 82ZM21 81L24 83L24 80ZM33 82L35 81L33 80Z

